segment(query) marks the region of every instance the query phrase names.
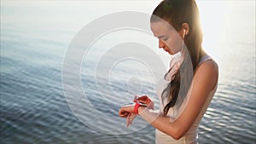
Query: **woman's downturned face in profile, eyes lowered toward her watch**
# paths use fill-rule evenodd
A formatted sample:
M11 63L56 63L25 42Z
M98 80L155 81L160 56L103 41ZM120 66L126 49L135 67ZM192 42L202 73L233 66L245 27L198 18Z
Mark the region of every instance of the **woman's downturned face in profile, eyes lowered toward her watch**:
M170 55L180 51L183 40L182 32L177 32L165 20L152 22L150 28L155 37L159 38L159 48L166 50Z

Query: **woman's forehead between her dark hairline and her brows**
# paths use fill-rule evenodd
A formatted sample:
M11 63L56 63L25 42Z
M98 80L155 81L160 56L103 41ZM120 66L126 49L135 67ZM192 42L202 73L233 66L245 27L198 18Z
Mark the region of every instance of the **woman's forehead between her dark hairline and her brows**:
M151 22L150 28L151 28L151 31L154 33L155 37L168 35L170 34L170 32L175 31L174 28L164 20Z

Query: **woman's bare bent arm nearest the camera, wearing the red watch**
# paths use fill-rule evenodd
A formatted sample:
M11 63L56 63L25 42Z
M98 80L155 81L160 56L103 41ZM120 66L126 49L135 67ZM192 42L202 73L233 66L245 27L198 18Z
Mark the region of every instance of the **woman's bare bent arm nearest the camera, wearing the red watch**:
M179 139L190 129L195 119L201 112L207 96L214 89L218 81L218 67L212 60L207 60L198 67L191 85L191 94L187 107L183 113L174 122L170 121L170 117L160 116L159 113L151 112L146 107L139 107L138 112L143 119L152 124L154 128ZM122 112L133 112L133 107L122 107Z

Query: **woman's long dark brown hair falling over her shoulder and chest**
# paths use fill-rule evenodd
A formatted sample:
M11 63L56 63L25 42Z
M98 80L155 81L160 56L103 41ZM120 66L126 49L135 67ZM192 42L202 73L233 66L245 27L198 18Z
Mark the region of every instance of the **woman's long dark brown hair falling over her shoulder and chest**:
M192 62L192 71L195 71L201 59L202 30L200 14L195 0L164 0L154 9L150 19L151 22L160 20L155 19L155 16L166 20L177 32L181 30L183 23L189 24L189 33L184 37L189 58L184 58L183 64L175 74L174 79L172 79L162 92L162 98L166 95L169 97L169 102L164 108L164 115L166 115L170 107L174 107L175 105L179 107L181 102L177 103L177 99L184 97L188 93L192 80L189 78L189 68L185 64L189 61L190 63ZM182 90L180 90L181 84L183 84Z

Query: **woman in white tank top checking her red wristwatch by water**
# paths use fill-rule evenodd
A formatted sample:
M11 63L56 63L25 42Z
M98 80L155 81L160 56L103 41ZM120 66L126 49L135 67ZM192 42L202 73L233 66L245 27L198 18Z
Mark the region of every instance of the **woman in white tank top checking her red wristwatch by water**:
M218 66L201 48L195 0L161 2L154 9L150 26L159 38L159 48L172 55L164 77L168 84L160 93L160 112L152 111L153 102L143 96L135 105L121 107L119 116L139 114L156 129L156 143L197 143L198 124L217 89Z

